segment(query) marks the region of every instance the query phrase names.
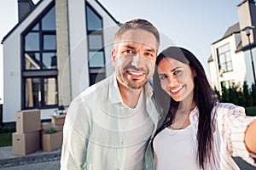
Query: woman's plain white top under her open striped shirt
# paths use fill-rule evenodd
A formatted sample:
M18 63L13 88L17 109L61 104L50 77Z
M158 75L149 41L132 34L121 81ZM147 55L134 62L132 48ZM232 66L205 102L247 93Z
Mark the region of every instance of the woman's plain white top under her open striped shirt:
M154 139L157 170L198 170L191 125L184 129L163 129Z

